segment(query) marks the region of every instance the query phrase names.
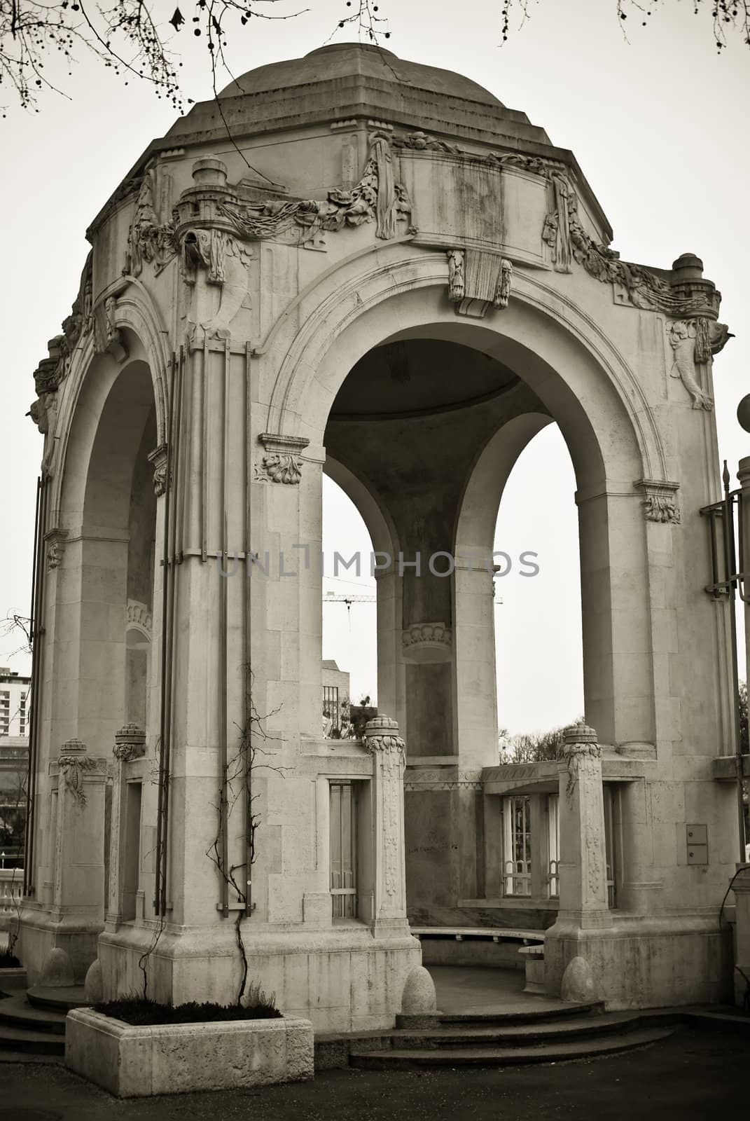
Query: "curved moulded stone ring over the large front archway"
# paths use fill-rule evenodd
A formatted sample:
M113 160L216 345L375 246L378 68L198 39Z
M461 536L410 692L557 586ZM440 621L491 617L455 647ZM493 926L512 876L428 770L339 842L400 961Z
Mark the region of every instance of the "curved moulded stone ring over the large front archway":
M602 462L607 476L612 479L611 453L627 443L629 478L617 479L620 485L666 480L661 436L635 371L573 302L536 276L519 274L509 307L480 326L455 315L442 257L398 245L379 251L377 259L367 271L357 259L349 270L344 266L326 274L297 302L298 318L288 314L269 334L263 352L284 358L270 371L267 430L320 443L335 393L354 363L379 342L428 331L487 353L501 345L506 361L525 367L524 380L556 414L578 476L574 437L577 428L594 430L590 411L599 406L611 432L596 430L587 450L595 455L598 444L600 455L602 448L610 453L610 462ZM291 323L299 321L303 326L295 332Z

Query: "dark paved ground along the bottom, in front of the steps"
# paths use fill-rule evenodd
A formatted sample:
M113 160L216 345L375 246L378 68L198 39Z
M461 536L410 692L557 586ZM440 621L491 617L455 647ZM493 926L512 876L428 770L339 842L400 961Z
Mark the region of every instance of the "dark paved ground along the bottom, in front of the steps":
M748 1058L747 1034L680 1028L664 1043L591 1063L330 1071L312 1083L130 1101L61 1066L2 1063L0 1121L715 1121L748 1115Z

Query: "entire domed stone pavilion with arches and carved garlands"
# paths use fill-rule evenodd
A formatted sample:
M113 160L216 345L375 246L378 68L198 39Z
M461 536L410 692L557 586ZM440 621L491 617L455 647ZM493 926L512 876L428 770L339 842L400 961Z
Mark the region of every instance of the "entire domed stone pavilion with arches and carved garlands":
M213 102L149 145L35 372L29 982L96 961L112 999L146 963L158 1000L257 981L317 1030L380 1028L422 975L411 925L522 915L549 993L585 973L610 1007L719 1000L732 701L698 510L720 294L693 253L623 260L572 152L461 75L339 44L220 99L235 149ZM478 558L553 421L586 724L498 767ZM321 738L324 473L377 558L362 742ZM558 794L521 899L513 793L537 833Z

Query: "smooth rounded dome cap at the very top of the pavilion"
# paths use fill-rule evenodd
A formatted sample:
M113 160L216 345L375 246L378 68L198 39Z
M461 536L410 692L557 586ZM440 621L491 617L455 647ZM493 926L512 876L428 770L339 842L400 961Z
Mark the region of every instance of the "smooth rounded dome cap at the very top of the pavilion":
M410 63L399 58L391 50L361 43L333 43L327 47L311 50L304 58L289 58L283 63L258 66L235 82L230 82L219 96L237 98L243 93L267 93L270 90L288 90L354 75L503 108L502 102L498 101L489 90L464 77L463 74L444 71L437 66L425 66L422 63Z

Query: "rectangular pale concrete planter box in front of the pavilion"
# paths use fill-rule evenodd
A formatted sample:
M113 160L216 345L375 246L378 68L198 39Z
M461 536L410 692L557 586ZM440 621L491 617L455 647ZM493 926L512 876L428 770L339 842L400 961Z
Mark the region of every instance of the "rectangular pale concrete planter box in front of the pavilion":
M309 1020L131 1027L90 1008L68 1012L65 1063L115 1097L232 1090L313 1077Z

